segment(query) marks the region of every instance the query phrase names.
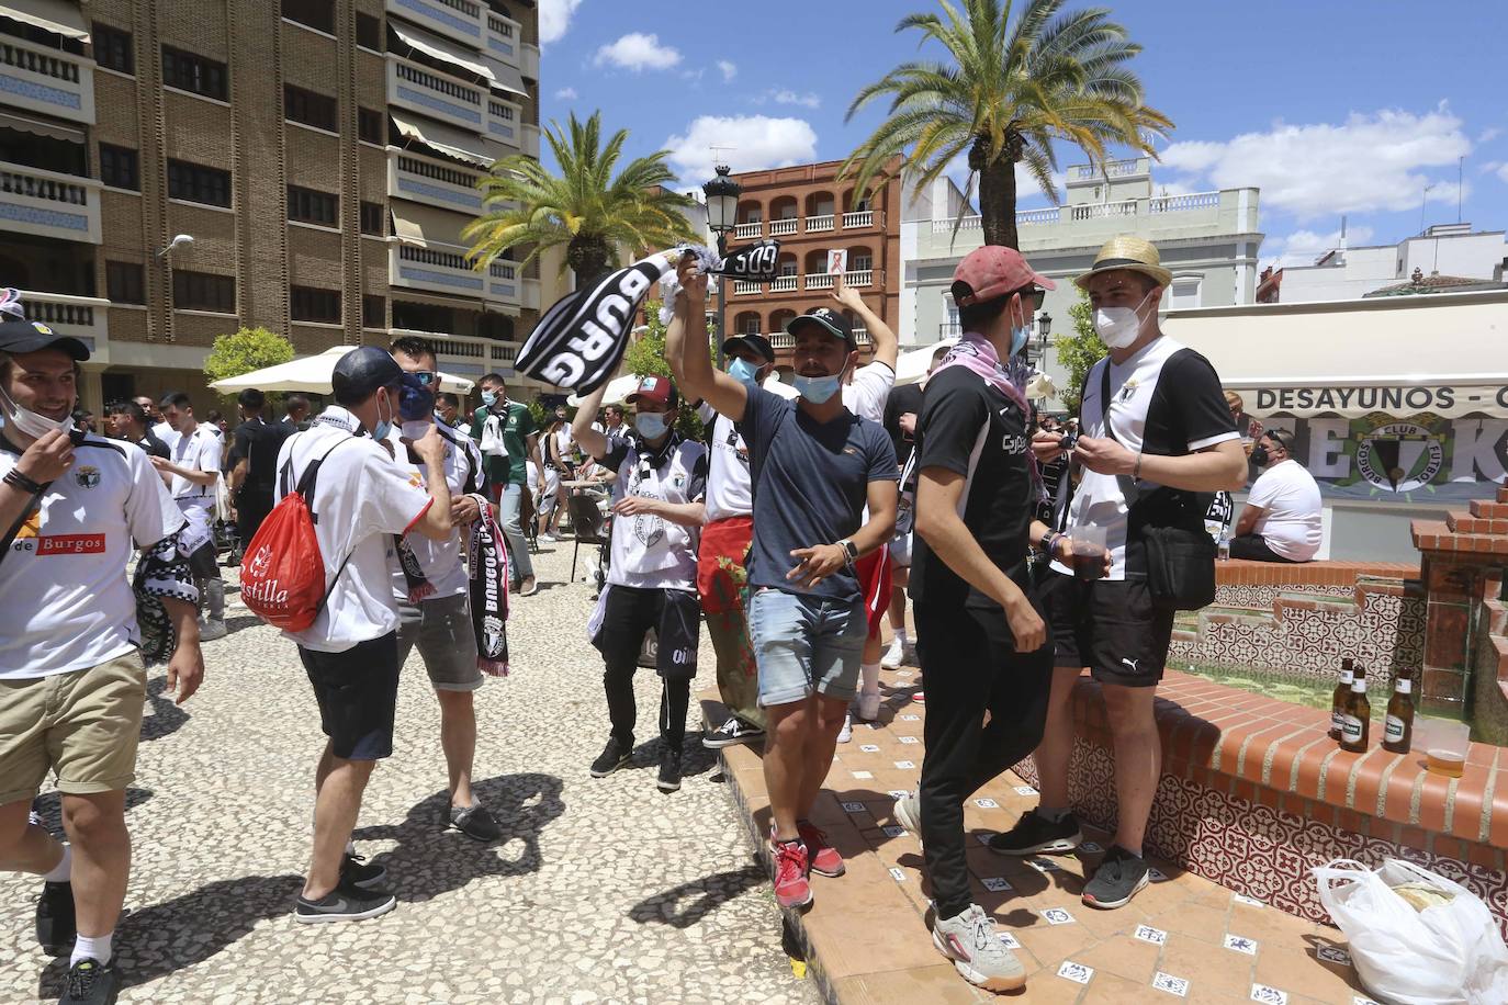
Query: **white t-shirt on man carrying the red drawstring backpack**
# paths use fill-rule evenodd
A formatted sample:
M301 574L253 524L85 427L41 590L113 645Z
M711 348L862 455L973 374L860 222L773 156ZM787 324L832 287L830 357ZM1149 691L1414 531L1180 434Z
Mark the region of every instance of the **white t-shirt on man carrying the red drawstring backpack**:
M339 444L324 457L312 499L306 500L318 517L314 536L324 557L324 582L330 594L312 625L284 633L318 652L344 652L398 627L386 538L407 533L434 502L422 478L400 467L372 438L353 437L359 428L356 416L330 405L308 431L284 440L277 452L274 500L297 487L309 461ZM282 470L290 461L285 487ZM342 561L345 568L336 576Z

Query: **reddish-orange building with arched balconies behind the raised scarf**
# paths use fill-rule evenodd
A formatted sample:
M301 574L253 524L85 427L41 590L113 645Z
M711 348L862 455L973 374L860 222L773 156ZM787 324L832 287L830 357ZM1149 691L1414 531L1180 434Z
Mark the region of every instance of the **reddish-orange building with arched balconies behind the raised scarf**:
M777 366L790 369L786 322L811 307L832 306L828 252L847 252L847 285L857 289L902 342L900 184L888 181L864 199L854 181L837 179L841 161L799 164L733 175L743 187L730 246L780 241L780 276L769 283L733 283L728 331L762 333L775 347ZM847 312L844 312L847 313ZM860 348L869 331L860 325Z

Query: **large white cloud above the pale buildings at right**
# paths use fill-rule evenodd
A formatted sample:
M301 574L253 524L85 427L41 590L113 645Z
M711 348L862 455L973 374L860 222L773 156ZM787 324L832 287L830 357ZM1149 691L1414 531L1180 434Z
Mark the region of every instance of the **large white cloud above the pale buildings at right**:
M1461 121L1442 102L1425 115L1353 113L1339 125L1277 122L1267 133L1244 133L1223 143L1173 143L1163 151L1163 164L1212 188L1256 185L1264 208L1303 221L1410 209L1425 197L1454 202L1455 182L1434 182L1425 169L1454 167L1470 151ZM1434 188L1425 196L1430 184Z

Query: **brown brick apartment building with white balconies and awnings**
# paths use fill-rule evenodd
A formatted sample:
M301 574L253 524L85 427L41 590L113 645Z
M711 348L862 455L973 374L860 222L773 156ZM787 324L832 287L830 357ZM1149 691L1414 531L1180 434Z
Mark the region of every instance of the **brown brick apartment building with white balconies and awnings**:
M86 407L204 390L216 336L431 334L511 368L535 270L463 259L538 155L532 0L0 0L0 285L89 339ZM192 243L175 243L187 234Z

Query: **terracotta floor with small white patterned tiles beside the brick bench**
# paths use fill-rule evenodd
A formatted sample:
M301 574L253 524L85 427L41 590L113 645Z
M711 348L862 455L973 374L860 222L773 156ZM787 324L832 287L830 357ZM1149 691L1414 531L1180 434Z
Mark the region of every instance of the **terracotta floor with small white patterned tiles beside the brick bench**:
M884 672L881 722L855 725L838 747L813 818L844 854L847 874L813 884L799 939L823 996L857 1002L976 1002L994 996L959 978L933 948L924 912L929 886L920 844L893 817L894 794L915 787L924 702L915 667ZM716 695L703 693L709 716ZM751 833L769 827L757 750L725 753ZM1190 872L1160 863L1154 883L1126 907L1084 907L1086 871L1108 835L1090 830L1081 854L1022 860L983 847L1036 805L1036 791L1006 773L965 809L977 903L992 912L1030 973L1012 1000L1125 1005L1133 1002L1262 1002L1365 1005L1345 937L1285 915Z

